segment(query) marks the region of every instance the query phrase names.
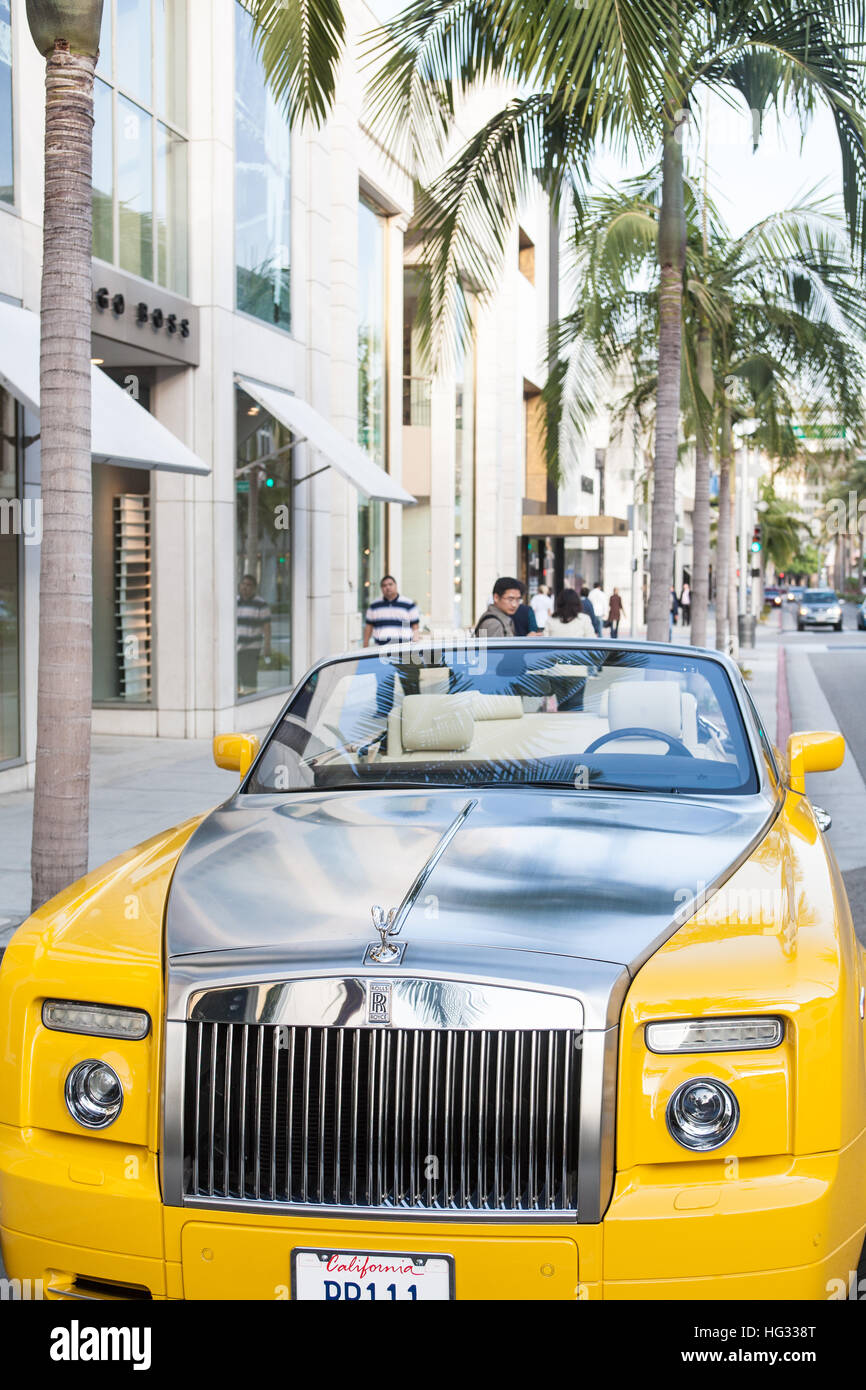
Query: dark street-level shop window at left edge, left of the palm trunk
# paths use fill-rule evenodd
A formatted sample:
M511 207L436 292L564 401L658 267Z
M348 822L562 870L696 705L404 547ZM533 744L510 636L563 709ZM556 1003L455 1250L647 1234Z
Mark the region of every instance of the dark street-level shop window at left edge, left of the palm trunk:
M21 755L18 582L21 571L19 407L0 386L0 763Z

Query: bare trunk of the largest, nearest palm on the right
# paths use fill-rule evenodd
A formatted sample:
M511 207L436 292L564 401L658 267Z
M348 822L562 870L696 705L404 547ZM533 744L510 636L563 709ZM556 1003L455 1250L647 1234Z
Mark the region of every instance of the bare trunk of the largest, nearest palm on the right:
M646 606L646 637L651 642L666 642L669 635L677 446L680 442L685 211L683 195L683 146L673 121L666 129L662 163L659 265L659 395L656 404L656 455L652 470L649 603Z

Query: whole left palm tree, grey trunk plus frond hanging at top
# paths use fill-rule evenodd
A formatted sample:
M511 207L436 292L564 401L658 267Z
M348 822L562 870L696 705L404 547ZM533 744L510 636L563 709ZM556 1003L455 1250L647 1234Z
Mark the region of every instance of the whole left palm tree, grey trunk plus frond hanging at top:
M321 122L343 44L336 0L249 0L292 121ZM46 58L40 431L43 543L32 908L88 867L92 708L93 74L103 0L26 0Z

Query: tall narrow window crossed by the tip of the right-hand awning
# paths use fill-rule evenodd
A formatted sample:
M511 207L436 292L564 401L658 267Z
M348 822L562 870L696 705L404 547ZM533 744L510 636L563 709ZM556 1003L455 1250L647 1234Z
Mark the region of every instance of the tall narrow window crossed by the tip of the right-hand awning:
M361 197L357 227L357 442L379 468L385 445L385 231L386 220ZM378 598L385 573L385 503L357 509L357 595L361 613Z

